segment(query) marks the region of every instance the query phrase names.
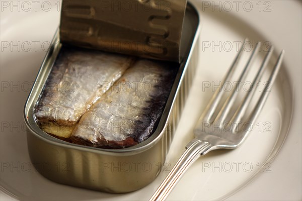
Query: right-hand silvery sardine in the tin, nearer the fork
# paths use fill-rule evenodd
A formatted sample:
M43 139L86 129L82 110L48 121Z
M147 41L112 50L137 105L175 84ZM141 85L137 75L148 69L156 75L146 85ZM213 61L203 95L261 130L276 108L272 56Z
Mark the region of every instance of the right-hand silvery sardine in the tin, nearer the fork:
M74 143L125 148L146 140L162 116L176 68L171 63L138 60L81 118Z

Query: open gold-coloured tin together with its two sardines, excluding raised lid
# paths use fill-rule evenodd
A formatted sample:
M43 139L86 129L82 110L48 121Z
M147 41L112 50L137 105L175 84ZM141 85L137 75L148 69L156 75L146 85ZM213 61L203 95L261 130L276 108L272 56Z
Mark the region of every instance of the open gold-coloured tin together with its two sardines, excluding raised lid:
M80 14L71 12L73 20L88 19L87 12L74 8ZM58 30L24 109L28 150L32 162L40 164L37 170L58 183L112 193L152 182L194 77L199 29L198 12L188 3L178 61L172 54L156 58L154 52L91 50L98 49L91 45L94 40L79 43L73 37L64 43Z

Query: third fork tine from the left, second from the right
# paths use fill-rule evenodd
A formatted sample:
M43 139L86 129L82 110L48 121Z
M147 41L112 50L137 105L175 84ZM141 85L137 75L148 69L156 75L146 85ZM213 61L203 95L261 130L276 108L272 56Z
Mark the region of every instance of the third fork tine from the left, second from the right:
M239 122L241 119L242 119L242 116L245 114L251 100L252 100L252 97L253 95L255 94L255 91L256 91L256 84L257 82L259 82L260 78L262 77L263 73L264 73L264 69L272 55L272 52L273 52L273 46L270 47L270 49L268 50L268 53L266 54L255 78L254 78L254 81L252 83L252 86L250 88L250 90L247 92L247 94L245 95L244 97L244 100L243 102L241 103L240 107L237 109L237 111L235 112L235 114L233 115L232 119L230 122L233 122L233 123L237 123ZM236 132L237 130L237 126L234 126L233 127L233 132Z

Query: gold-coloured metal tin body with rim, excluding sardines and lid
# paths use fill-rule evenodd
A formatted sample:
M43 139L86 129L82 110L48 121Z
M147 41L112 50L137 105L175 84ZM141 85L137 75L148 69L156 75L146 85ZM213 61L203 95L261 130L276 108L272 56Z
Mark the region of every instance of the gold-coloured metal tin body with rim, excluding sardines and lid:
M108 150L54 138L43 132L34 119L34 107L61 47L57 31L24 108L31 161L50 167L37 166L37 170L58 183L112 193L134 191L152 182L165 161L192 83L197 67L199 32L198 12L188 4L182 30L183 61L156 131L135 146Z

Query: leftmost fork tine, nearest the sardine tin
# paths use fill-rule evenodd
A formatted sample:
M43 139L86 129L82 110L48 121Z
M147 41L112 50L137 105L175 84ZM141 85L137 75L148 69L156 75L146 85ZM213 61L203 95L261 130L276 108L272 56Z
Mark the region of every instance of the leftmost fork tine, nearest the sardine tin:
M235 57L229 71L226 73L222 84L219 86L219 88L215 91L214 95L211 97L208 105L206 106L205 110L203 111L200 120L204 121L204 122L212 122L212 117L216 111L216 108L218 106L218 103L220 102L220 99L222 97L223 94L223 90L221 90L221 88L223 88L224 84L230 80L230 78L232 77L234 71L235 71L235 67L242 55L243 49L244 49L244 44L248 39L246 38L243 43L242 46L237 54L237 56Z

